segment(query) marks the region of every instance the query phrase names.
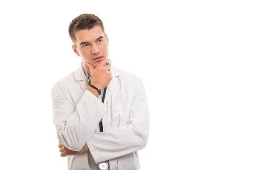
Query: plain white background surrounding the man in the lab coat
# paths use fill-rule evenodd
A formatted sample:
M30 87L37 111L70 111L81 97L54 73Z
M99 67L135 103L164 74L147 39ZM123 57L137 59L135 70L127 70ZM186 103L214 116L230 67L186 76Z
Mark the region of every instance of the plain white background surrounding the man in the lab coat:
M113 65L143 80L141 170L256 169L256 6L246 0L1 1L0 169L64 170L50 91L81 63L68 25L100 17Z

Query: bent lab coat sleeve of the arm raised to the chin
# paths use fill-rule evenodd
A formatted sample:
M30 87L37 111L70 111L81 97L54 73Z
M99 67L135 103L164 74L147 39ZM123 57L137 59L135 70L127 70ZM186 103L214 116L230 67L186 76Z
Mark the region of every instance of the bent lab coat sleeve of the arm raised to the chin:
M51 96L58 140L68 149L80 151L107 112L107 106L88 90L75 106L68 101L58 82L53 85Z

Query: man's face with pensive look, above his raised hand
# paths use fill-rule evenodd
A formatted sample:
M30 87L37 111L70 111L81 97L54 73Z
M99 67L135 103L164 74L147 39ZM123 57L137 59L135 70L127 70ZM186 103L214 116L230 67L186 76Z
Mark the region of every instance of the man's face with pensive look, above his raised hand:
M100 26L80 30L75 33L76 47L72 48L76 55L80 56L83 63L89 62L94 68L103 59L108 59L108 36L104 35ZM95 58L101 57L96 60ZM84 65L87 67L87 65Z

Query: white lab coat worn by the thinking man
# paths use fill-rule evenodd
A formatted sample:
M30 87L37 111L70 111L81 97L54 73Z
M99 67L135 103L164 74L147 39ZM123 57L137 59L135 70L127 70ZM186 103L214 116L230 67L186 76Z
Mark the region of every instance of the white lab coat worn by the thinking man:
M69 170L99 170L102 161L110 170L140 170L137 150L147 143L150 120L144 85L113 65L111 73L104 103L87 91L81 67L51 89L58 140L70 150L80 151L86 143L90 150L67 156ZM101 119L104 132L99 132Z

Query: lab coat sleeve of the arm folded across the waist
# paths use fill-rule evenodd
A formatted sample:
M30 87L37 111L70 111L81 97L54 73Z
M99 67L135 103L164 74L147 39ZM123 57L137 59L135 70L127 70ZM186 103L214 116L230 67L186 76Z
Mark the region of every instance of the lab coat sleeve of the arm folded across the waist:
M94 133L87 141L96 164L127 155L145 147L149 132L149 111L144 85L138 79L127 124Z

